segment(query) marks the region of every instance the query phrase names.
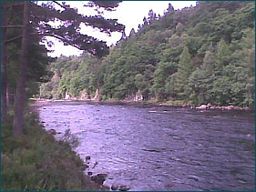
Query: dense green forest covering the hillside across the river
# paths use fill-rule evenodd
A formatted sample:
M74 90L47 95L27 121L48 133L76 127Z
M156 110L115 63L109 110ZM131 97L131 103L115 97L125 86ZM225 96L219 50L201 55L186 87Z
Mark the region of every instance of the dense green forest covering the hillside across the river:
M108 56L61 56L48 70L37 96L254 107L255 2L150 10Z

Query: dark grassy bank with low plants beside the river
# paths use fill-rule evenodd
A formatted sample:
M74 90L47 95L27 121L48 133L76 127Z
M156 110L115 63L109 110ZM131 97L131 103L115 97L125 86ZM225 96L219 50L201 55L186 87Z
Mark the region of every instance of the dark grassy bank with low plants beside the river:
M69 143L46 133L36 114L26 115L25 133L18 138L11 125L1 126L2 191L104 190L84 175L85 168Z

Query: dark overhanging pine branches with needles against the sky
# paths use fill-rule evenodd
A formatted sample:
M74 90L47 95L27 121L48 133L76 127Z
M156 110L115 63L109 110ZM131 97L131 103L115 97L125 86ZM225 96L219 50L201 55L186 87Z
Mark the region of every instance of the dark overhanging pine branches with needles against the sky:
M90 5L98 7L114 8L118 6L118 2L100 2L94 1ZM54 5L55 4L55 5ZM59 7L59 8L56 8ZM81 50L96 56L105 56L108 54L108 46L106 42L99 41L93 36L80 33L80 25L83 23L92 27L96 27L102 33L108 35L111 32L122 32L124 25L118 24L117 19L106 19L102 15L80 15L76 8L54 1L47 4L32 4L33 23L40 35L49 35L56 37L66 45L73 45ZM50 25L49 22L54 21L60 23L57 27Z

